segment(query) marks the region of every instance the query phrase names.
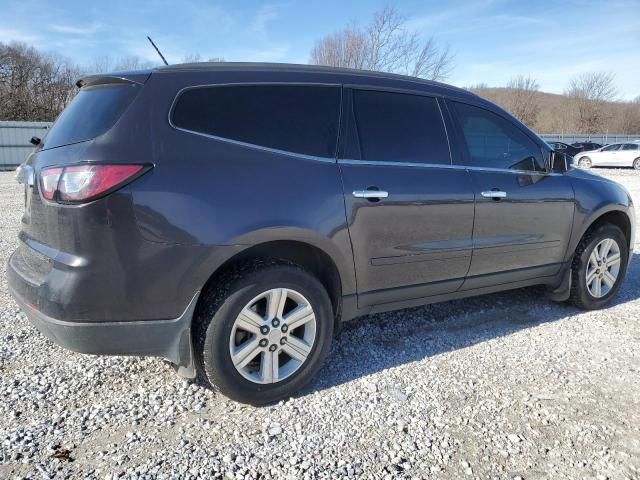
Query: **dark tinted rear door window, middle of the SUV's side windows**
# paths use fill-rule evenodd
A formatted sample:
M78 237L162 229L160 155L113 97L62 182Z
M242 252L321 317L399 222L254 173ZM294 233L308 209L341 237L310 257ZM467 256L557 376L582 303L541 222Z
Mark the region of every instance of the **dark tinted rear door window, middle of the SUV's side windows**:
M435 98L373 90L353 91L355 128L344 157L450 164L449 144Z

